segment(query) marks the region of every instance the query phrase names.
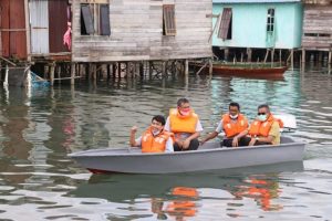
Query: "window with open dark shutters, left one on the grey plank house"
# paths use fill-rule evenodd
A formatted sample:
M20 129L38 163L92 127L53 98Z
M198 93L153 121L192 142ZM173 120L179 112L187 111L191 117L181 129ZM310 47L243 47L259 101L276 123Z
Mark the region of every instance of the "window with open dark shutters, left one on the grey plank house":
M81 34L111 35L110 6L104 3L81 4Z

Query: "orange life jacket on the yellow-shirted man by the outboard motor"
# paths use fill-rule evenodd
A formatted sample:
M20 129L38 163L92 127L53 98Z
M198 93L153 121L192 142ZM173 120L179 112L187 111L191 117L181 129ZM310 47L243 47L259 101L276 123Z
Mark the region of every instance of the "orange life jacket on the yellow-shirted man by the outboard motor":
M255 119L250 125L249 135L250 136L268 137L269 131L270 131L270 129L272 127L272 124L274 122L278 122L280 128L283 127L282 120L274 118L272 114L270 114L269 118L266 122L260 122L258 119Z

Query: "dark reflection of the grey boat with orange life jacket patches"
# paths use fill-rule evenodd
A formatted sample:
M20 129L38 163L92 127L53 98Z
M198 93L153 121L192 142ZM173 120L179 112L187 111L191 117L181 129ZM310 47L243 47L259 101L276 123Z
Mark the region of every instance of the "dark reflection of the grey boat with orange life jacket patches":
M262 201L268 197L271 199L279 197L279 172L302 170L303 162L297 161L193 173L92 175L87 182L77 185L77 189L69 194L79 198L106 199L112 202L147 198L152 199L152 210L158 215L189 217L196 214L196 202L203 199L203 196L198 194L200 188L222 190L238 199L249 198L250 193L256 194L253 193L256 189L263 192L262 189L266 188L269 193L259 193L253 198ZM257 181L259 180L258 175L264 176L266 179ZM252 181L248 181L250 179ZM274 192L272 187L276 189ZM269 200L262 209L272 209ZM269 203L270 206L268 206Z

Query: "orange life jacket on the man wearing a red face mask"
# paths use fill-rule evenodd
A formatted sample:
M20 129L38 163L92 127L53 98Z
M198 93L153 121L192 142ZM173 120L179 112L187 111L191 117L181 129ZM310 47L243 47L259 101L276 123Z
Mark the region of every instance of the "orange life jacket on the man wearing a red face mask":
M196 131L198 116L193 110L188 116L183 116L177 109L169 110L169 125L172 133L190 133Z

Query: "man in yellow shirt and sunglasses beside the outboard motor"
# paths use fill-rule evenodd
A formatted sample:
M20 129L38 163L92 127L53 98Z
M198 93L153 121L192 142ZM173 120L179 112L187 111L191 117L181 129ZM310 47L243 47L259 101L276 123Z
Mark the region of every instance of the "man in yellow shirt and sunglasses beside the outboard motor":
M235 139L243 138L248 146L258 145L280 145L280 127L283 126L281 119L277 119L270 112L267 104L258 106L256 119L250 127L240 133Z

